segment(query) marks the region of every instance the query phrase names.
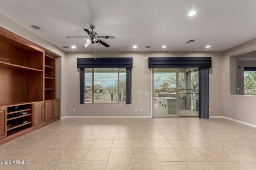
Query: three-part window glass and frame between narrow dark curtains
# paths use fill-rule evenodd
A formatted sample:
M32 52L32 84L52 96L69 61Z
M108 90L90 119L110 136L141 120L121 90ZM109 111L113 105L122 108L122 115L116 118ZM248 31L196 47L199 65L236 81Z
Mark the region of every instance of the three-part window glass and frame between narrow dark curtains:
M126 68L85 68L85 103L126 103Z

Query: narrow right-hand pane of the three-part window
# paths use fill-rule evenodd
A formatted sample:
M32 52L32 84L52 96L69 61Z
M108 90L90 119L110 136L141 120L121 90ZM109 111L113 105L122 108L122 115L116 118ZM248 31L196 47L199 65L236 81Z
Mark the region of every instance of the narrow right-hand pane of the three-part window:
M126 103L126 68L119 68L119 102Z

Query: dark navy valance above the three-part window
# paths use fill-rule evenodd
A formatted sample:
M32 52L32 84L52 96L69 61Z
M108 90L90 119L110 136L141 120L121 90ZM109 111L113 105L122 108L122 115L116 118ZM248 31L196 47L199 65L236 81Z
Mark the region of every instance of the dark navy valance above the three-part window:
M77 68L132 68L132 57L77 58Z

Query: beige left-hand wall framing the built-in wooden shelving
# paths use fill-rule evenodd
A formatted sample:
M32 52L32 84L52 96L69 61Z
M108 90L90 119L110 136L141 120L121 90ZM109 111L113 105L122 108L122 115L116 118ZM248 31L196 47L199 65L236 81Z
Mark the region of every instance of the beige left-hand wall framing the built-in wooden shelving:
M49 52L52 52L60 58L57 59L57 98L60 98L60 113L61 117L66 115L66 70L65 66L65 55L66 53L53 45L52 43L46 41L42 37L36 35L35 33L29 31L28 29L22 27L18 23L10 20L6 16L0 14L0 27L6 29L44 49ZM61 63L60 63L61 62Z

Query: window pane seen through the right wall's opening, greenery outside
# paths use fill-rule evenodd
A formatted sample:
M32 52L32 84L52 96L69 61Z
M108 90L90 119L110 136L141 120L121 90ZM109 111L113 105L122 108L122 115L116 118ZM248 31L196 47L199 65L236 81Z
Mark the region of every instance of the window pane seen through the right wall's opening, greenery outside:
M244 72L244 94L256 95L256 71Z

